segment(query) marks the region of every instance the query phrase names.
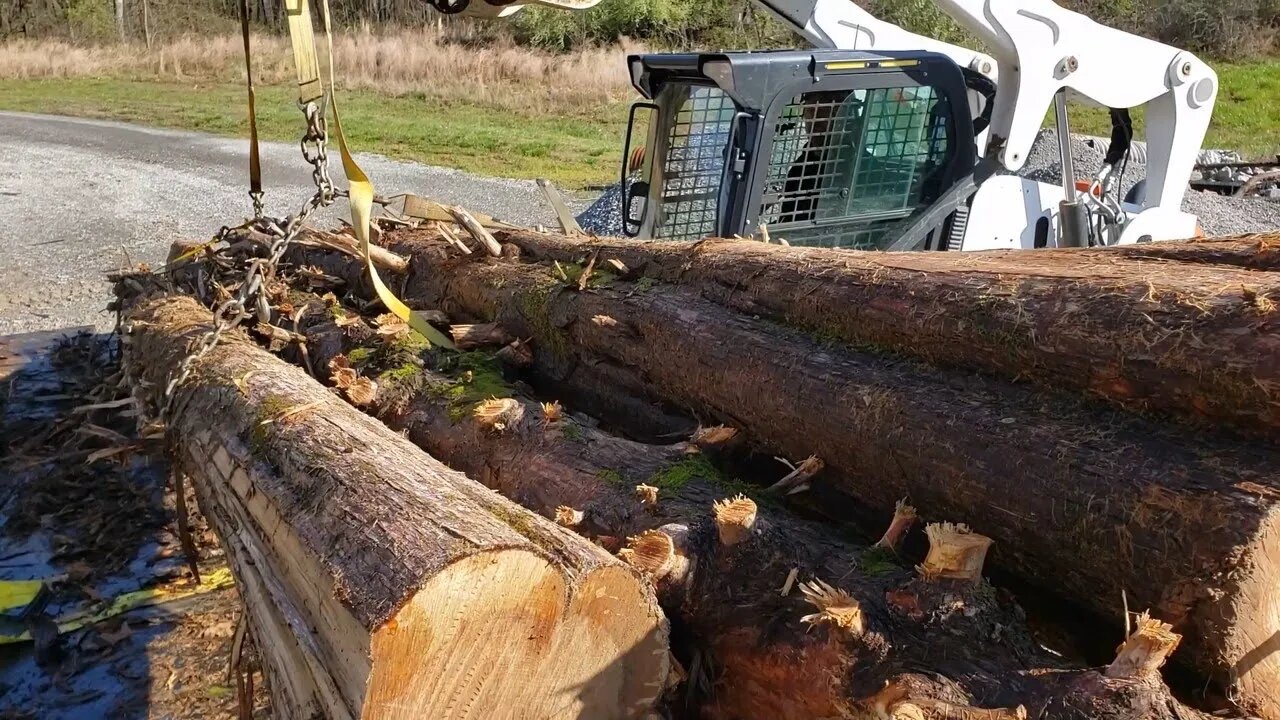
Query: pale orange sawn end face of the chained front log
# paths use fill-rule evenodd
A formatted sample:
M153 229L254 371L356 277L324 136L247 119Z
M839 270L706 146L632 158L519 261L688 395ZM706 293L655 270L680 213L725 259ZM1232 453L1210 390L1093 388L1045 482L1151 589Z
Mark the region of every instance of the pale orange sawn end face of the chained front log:
M530 717L643 717L667 662L643 607L640 584L621 568L570 593L534 553L467 557L374 633L362 715L497 717L522 707Z

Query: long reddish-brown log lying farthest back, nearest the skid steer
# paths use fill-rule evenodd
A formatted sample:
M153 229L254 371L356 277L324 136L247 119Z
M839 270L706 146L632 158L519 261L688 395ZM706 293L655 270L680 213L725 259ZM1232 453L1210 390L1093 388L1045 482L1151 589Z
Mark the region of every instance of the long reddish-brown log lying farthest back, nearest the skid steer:
M1280 234L965 254L500 236L534 258L617 259L823 338L1280 439L1280 274L1254 272L1276 265Z

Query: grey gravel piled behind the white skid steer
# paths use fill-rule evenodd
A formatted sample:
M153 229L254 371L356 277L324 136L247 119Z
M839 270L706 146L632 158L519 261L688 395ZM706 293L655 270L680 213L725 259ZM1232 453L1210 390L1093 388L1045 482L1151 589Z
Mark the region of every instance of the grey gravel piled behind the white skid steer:
M1093 177L1102 168L1106 150L1106 138L1073 136L1071 155L1075 160L1076 177L1082 179ZM1129 164L1120 176L1121 197L1138 181L1147 177L1143 161L1146 152L1144 149L1140 150L1130 154ZM1228 161L1233 154L1207 150L1202 155L1204 155L1203 161ZM1215 159L1219 155L1221 159ZM1061 182L1062 168L1059 163L1057 136L1053 131L1041 131L1028 154L1027 164L1018 174L1053 184ZM613 184L577 217L577 223L590 233L622 234L621 205L622 192L618 184ZM1280 229L1280 201L1275 199L1226 197L1216 192L1188 190L1183 199L1183 210L1199 217L1201 225L1210 236Z

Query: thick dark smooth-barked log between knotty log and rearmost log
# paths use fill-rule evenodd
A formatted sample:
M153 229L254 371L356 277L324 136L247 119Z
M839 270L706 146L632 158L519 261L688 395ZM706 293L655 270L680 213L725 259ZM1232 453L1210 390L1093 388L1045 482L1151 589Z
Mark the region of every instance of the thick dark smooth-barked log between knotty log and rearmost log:
M867 507L909 497L983 528L998 566L1103 621L1128 593L1185 637L1175 660L1280 719L1272 451L832 347L682 288L576 292L544 266L447 258L413 233L389 242L411 258L407 296L534 338L536 363L614 363L771 452L818 455L812 492L844 520L867 527Z

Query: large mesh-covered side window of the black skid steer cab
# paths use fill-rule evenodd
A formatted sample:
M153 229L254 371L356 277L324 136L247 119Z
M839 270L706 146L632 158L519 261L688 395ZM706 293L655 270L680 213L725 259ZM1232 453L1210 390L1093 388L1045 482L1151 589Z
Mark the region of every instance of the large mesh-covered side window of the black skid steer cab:
M776 126L760 222L792 245L876 247L936 196L947 115L928 86L792 97Z

